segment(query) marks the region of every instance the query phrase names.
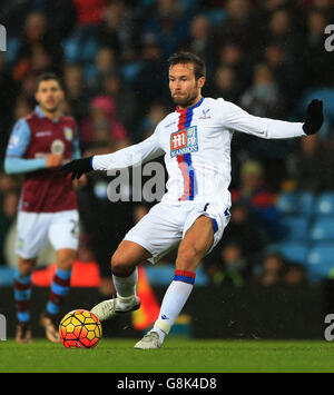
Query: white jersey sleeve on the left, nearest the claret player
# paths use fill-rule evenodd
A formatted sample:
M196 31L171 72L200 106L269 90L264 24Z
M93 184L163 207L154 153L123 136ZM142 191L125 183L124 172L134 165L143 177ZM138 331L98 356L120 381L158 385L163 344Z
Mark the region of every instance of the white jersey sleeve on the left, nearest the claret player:
M164 150L159 145L157 131L155 131L139 144L122 148L112 154L95 156L91 164L94 170L122 169L144 164L161 155L164 155Z

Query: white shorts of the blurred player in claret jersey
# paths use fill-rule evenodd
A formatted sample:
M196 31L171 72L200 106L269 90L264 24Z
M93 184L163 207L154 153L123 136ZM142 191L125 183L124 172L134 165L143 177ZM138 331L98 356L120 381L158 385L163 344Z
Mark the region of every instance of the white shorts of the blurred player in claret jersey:
M24 259L38 257L48 238L52 248L78 249L79 214L78 210L58 213L18 214L18 237L16 254Z

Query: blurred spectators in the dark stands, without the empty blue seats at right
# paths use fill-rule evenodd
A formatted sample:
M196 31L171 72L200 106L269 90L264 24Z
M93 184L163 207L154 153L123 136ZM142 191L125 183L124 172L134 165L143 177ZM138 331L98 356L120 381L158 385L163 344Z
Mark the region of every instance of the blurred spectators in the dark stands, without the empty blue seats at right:
M174 108L166 60L181 49L206 61L204 96L255 116L302 121L307 99L326 97L316 136L268 141L235 134L232 220L204 263L217 284L304 282L303 266L264 251L279 238L277 194L334 189L334 52L324 48L333 11L331 0L4 0L1 160L13 122L35 108L35 82L43 71L63 78L63 112L78 122L82 156L111 152L153 132ZM0 264L8 263L4 244L20 182L0 174ZM80 258L97 259L106 276L112 250L148 209L145 203L111 205L107 185L108 177L95 174L78 191Z

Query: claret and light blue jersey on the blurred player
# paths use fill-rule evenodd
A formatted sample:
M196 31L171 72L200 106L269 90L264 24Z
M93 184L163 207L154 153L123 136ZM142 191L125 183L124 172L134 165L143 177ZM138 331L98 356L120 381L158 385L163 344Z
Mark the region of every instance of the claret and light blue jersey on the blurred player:
M73 118L47 118L39 106L17 121L7 147L4 169L8 174L24 174L20 209L55 213L77 208L70 178L58 169L47 169L46 157L60 154L63 160L80 156L77 124Z

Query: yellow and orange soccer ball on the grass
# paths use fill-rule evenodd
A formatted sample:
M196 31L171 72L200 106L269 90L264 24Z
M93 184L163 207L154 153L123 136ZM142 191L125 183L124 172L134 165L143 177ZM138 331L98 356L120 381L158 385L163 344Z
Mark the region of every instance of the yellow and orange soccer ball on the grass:
M92 313L72 310L61 319L59 336L66 348L94 348L102 336L102 326Z

